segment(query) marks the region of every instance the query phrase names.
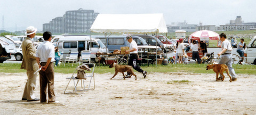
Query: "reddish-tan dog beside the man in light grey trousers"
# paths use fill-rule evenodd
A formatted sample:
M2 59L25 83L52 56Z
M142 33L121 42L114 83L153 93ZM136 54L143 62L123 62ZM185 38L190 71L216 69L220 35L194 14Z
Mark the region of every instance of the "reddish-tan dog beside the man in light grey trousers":
M216 73L216 81L218 81L219 79L219 73L220 75L222 75L222 81L224 80L225 76L223 75L223 72L226 71L227 75L230 78L230 82L232 82L231 80L231 76L229 75L229 71L228 71L228 67L225 64L207 64L206 70L209 69L213 69L213 71Z

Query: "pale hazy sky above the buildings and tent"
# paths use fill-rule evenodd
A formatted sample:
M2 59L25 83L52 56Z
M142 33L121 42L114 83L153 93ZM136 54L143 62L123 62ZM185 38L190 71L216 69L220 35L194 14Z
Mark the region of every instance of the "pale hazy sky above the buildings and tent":
M80 8L100 14L163 13L166 24L186 20L188 24L219 26L237 16L244 22L256 22L255 5L255 0L1 0L0 30L14 32L34 26L42 31L43 23Z

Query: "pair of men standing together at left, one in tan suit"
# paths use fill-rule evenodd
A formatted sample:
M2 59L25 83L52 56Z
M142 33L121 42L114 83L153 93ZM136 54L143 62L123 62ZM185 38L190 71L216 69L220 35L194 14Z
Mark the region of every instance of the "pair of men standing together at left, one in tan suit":
M23 60L21 69L27 70L27 83L23 92L23 101L40 101L41 103L59 103L56 101L54 93L54 46L51 43L52 34L50 31L45 31L43 34L44 42L41 43L37 50L34 46L33 38L36 35L37 29L29 26L26 29L27 38L23 40L21 47ZM40 81L40 98L36 98L34 90L36 87L37 70L39 71ZM48 91L48 93L47 93ZM47 95L48 94L48 100Z

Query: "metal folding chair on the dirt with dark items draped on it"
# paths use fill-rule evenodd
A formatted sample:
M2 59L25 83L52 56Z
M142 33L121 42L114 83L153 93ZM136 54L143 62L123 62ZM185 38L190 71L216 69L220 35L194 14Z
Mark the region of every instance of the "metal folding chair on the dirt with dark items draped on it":
M94 80L94 67L95 67L95 65L93 63L86 63L86 65L88 65L88 67L91 68L91 69L93 68L90 72L86 71L86 74L85 74L86 80L90 78L90 82L88 81L89 82L88 88L85 88L85 83L84 83L85 79L77 79L76 76L74 76L75 72L79 70L79 66L78 66L78 67L76 67L75 71L73 72L73 75L70 78L66 78L66 79L70 79L69 82L68 82L68 85L69 85L70 81L73 80L74 89L73 89L72 92L66 92L67 88L68 88L68 85L67 85L67 87L66 87L66 89L64 91L64 94L74 93L74 92L76 94L78 94L77 93L78 91L82 91L84 93L86 91L94 90L95 89L95 80ZM77 80L77 81L75 82L75 80ZM79 80L81 80L81 88L82 88L81 90L77 89L77 84L78 84ZM93 86L92 86L93 88L90 88L92 80L93 80Z

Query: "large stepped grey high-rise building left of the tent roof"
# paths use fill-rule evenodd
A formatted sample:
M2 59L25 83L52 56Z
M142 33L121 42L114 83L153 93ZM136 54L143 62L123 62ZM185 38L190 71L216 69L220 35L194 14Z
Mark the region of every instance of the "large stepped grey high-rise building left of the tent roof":
M63 17L57 17L50 23L44 23L43 31L51 31L52 33L90 32L90 28L98 14L94 10L67 11Z

